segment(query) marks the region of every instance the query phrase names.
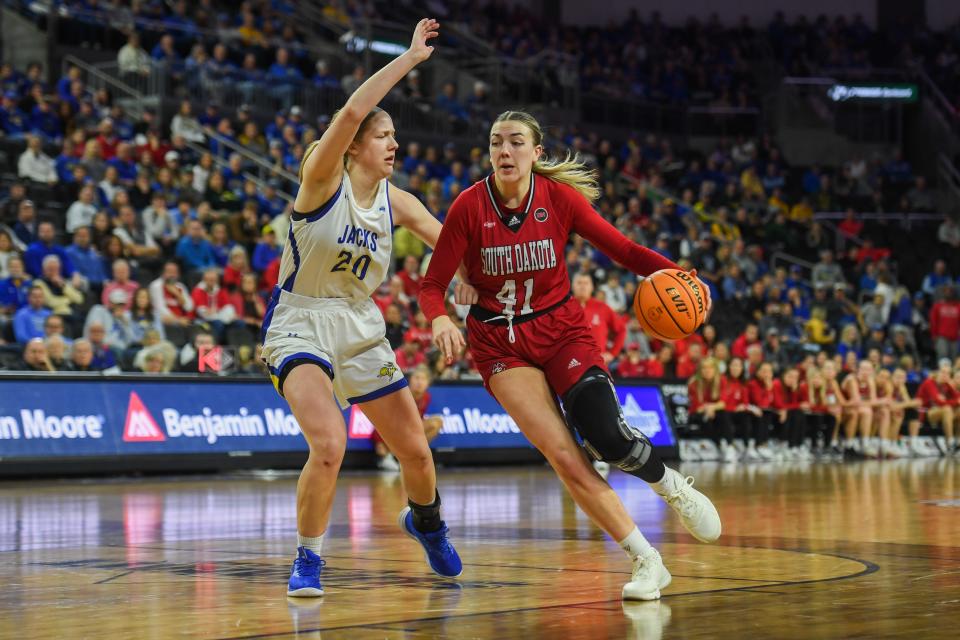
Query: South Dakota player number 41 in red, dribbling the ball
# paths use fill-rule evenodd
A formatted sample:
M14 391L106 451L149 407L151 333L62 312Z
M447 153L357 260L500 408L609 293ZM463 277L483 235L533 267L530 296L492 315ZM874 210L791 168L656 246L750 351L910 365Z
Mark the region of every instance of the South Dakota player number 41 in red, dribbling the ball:
M570 294L564 261L577 232L637 274L677 266L631 242L590 206L596 174L569 157L543 162L540 125L529 114L501 114L490 131L494 173L461 193L447 213L420 292L434 342L448 361L464 347L444 295L462 260L480 296L467 319L484 385L547 458L581 509L633 560L626 599L652 600L671 580L623 503L593 469L566 420L594 459L651 483L697 538L720 536L713 504L666 468L650 441L623 417L606 363ZM695 274L694 274L695 276ZM706 287L703 312L709 311Z

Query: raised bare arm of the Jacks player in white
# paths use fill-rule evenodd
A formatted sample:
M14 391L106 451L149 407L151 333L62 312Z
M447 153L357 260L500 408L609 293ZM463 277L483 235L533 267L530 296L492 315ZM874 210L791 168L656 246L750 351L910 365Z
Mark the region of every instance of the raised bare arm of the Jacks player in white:
M300 182L304 185L319 186L320 193L316 199L326 201L337 190L343 174L343 154L357 135L360 123L395 84L430 57L433 47L429 42L440 35L439 28L440 23L432 18L424 18L418 22L413 31L410 48L360 85L317 144L309 149Z

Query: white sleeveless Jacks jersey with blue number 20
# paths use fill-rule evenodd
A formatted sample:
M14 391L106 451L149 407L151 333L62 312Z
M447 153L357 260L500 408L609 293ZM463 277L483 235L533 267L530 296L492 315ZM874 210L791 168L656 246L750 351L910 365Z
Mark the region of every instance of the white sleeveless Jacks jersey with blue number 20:
M311 298L369 298L390 268L393 211L390 187L380 181L373 205L357 204L350 176L319 209L293 212L280 259L278 285Z

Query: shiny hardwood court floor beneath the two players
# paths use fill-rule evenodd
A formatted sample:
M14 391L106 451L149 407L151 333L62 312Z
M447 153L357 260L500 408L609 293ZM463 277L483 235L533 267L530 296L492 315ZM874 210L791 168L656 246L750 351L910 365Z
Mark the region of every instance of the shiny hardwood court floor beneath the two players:
M284 596L295 477L0 485L0 638L956 638L960 461L686 465L724 535L704 545L638 480L611 483L663 554L660 602L544 467L440 470L464 560L401 534L398 478L347 473L326 596Z

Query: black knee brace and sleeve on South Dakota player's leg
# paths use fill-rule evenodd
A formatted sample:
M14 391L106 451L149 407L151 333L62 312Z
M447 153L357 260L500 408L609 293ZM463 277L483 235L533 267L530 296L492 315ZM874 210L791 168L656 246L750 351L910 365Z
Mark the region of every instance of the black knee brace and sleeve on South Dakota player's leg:
M580 434L584 449L595 460L631 473L650 459L653 445L627 424L613 382L602 369L589 369L564 394L563 409L567 423Z

